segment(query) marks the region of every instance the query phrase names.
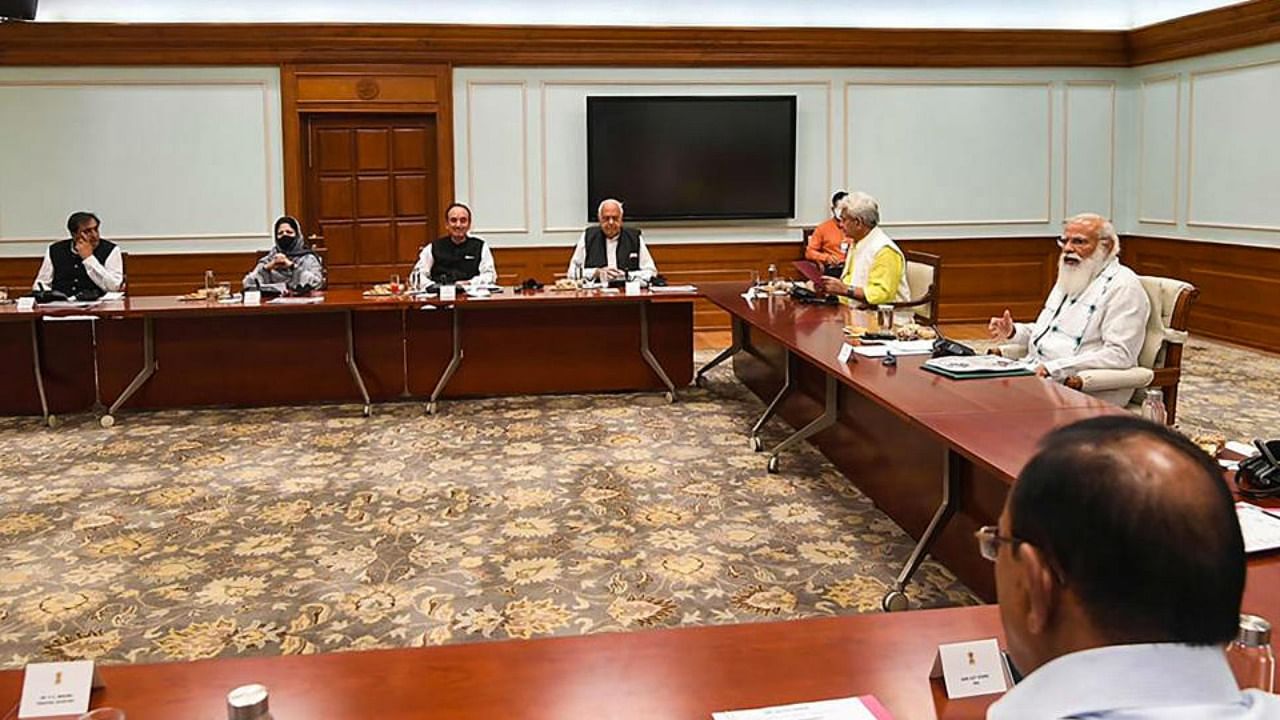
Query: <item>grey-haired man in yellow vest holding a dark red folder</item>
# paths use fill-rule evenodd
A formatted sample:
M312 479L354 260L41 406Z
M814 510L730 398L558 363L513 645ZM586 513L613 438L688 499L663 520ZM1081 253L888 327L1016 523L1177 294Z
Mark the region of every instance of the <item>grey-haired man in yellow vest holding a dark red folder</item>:
M840 201L840 225L854 241L840 279L822 278L820 290L868 305L906 302L906 258L902 249L879 228L879 204L865 192L851 192Z

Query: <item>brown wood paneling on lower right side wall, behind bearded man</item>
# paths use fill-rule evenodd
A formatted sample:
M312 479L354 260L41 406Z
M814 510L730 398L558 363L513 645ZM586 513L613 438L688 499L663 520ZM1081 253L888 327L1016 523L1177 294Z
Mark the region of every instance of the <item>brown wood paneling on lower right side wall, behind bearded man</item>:
M1280 352L1280 249L1142 236L1121 247L1138 273L1199 288L1193 333Z

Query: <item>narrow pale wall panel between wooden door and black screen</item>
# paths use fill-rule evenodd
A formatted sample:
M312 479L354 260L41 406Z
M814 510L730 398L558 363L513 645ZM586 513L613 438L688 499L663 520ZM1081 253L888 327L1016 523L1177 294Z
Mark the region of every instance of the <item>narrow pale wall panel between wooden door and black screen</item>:
M467 99L463 169L475 231L529 232L525 85L467 83Z

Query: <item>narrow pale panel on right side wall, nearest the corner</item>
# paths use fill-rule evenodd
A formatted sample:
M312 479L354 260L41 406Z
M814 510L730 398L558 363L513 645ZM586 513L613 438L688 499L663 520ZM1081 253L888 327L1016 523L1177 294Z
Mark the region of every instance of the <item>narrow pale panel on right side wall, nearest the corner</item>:
M1138 222L1174 225L1181 164L1180 78L1143 79L1138 95Z

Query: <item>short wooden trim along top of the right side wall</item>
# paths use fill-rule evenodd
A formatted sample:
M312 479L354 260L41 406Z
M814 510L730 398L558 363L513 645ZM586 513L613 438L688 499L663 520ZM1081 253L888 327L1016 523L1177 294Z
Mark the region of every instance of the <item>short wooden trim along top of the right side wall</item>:
M1129 64L1147 65L1280 41L1280 0L1253 0L1129 33Z

